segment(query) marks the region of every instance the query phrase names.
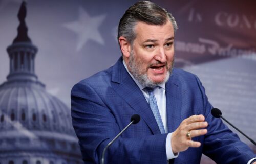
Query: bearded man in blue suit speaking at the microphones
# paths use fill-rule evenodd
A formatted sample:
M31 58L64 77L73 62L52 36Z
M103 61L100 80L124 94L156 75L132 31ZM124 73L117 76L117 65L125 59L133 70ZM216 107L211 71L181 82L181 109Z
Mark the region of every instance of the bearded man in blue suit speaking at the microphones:
M137 2L120 19L122 57L76 84L72 121L85 163L100 163L104 147L133 114L141 121L106 152L105 163L251 163L256 157L220 119L199 79L173 69L177 24L165 9ZM256 162L254 162L256 163Z

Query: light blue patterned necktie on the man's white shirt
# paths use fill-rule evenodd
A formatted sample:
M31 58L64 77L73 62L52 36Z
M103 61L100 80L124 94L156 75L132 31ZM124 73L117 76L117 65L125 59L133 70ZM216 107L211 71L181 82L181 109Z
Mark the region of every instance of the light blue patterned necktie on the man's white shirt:
M151 108L151 110L152 110L152 112L153 112L153 114L156 118L158 127L159 127L161 133L164 134L165 130L164 130L163 122L162 122L162 119L161 119L161 116L160 116L160 113L159 113L159 110L158 110L157 100L156 100L156 97L154 95L154 89L146 87L145 90L147 90L148 94L150 95L150 99L148 100L148 103L150 104L150 108Z

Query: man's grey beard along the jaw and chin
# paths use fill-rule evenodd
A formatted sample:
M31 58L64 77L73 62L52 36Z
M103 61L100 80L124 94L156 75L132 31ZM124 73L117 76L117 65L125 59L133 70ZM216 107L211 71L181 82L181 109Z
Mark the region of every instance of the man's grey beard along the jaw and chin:
M134 76L134 78L140 83L140 85L143 88L145 87L155 88L158 85L165 84L169 80L170 74L172 74L174 60L172 61L171 68L168 69L167 67L168 72L166 73L166 77L162 82L152 81L150 78L148 78L146 71L144 72L138 65L141 65L141 63L136 61L132 51L130 53L130 58L129 58L129 67L131 69L131 74Z

